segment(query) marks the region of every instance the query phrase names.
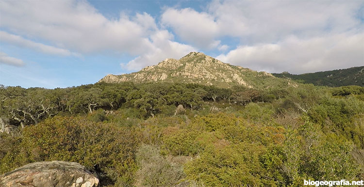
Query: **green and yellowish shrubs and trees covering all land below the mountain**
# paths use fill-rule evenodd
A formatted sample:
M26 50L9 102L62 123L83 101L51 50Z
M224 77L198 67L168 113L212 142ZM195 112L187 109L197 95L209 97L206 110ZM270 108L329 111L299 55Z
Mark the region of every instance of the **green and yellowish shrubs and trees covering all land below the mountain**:
M175 114L177 106L184 110ZM364 178L364 88L0 87L0 174L75 161L103 187L300 187Z

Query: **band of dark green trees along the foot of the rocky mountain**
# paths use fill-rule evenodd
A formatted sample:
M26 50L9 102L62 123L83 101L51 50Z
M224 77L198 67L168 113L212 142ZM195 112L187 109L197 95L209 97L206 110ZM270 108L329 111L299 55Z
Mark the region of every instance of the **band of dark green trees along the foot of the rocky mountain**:
M78 87L44 89L0 87L0 115L11 125L37 124L58 113L74 115L96 109L139 109L142 117L154 116L165 106L183 105L200 109L204 102L224 100L245 105L269 102L284 97L287 90L256 90L235 86L232 89L180 83L97 83Z

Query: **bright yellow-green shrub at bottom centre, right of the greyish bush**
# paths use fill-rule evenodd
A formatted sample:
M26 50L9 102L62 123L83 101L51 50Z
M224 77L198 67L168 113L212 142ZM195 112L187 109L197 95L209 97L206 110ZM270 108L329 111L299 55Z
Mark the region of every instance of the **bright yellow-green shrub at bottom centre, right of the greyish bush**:
M186 178L209 187L265 186L259 157L265 147L241 142L225 147L210 146L184 166Z

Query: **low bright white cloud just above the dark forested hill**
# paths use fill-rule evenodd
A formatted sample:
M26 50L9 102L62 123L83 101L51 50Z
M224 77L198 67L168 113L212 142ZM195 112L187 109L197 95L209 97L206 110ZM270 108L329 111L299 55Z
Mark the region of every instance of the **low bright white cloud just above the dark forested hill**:
M216 58L254 70L300 74L364 64L364 34L335 34L308 40L290 36L277 44L239 46Z

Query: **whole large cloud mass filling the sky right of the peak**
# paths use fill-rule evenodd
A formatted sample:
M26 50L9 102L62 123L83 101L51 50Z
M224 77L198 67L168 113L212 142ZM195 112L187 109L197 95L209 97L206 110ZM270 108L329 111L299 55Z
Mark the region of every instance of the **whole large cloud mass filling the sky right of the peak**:
M187 44L227 50L223 62L270 72L306 73L364 64L363 1L214 0L205 12L168 8L162 24ZM214 44L214 45L212 45Z

